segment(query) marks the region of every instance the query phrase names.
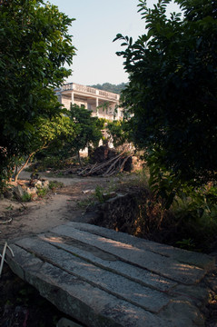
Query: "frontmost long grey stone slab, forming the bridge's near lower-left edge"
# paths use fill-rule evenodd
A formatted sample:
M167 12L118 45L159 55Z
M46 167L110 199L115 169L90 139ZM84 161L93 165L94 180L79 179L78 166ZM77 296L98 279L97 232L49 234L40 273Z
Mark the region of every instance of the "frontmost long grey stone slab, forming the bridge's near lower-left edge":
M90 327L173 327L167 320L42 260L17 245L15 258L8 255L12 270L61 311Z

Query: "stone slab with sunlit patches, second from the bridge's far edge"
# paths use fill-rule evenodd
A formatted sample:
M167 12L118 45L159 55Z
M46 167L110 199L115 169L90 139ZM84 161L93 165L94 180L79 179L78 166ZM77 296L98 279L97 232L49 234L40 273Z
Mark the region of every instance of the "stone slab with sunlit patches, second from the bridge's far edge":
M180 263L173 258L150 252L131 243L121 243L111 238L79 231L69 224L54 227L52 232L93 245L107 253L116 255L126 263L133 263L149 272L154 272L175 282L182 282L187 285L196 284L202 280L206 273L202 268L197 266Z

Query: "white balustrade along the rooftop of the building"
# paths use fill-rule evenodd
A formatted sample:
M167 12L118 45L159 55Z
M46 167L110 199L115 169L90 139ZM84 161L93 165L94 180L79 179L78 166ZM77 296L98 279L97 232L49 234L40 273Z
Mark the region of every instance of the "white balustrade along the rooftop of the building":
M81 84L75 84L75 83L68 83L64 84L61 89L61 91L78 91L83 94L94 94L98 95L99 97L103 97L106 99L111 99L111 100L119 100L119 94L113 94L111 92L106 92L102 90L95 89L94 87L91 86L84 86Z

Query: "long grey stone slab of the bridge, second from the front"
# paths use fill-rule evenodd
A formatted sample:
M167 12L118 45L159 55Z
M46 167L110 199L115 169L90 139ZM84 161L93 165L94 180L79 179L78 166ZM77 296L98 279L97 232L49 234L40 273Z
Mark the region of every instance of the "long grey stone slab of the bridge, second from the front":
M51 263L84 282L89 282L94 287L149 312L160 312L170 302L170 298L164 292L155 291L117 273L97 267L93 263L84 261L74 254L65 252L37 237L25 238L15 244L30 253L34 253L44 262Z

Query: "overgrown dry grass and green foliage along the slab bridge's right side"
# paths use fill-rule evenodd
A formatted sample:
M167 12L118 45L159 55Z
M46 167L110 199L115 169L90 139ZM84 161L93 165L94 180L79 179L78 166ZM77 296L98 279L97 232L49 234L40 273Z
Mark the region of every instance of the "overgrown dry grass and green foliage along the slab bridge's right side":
M143 198L138 199L135 235L187 250L212 251L217 245L216 184L183 185L174 194L169 207L167 198L159 195L156 185L153 190L152 185L145 183L145 190ZM170 196L169 192L167 194Z

